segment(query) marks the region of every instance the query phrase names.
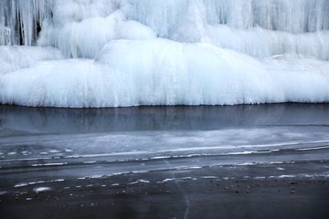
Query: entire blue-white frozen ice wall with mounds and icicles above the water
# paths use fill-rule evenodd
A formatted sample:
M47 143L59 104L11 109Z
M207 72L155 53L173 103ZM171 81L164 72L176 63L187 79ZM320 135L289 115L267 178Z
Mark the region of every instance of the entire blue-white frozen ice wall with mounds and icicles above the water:
M2 0L0 103L329 101L329 0Z

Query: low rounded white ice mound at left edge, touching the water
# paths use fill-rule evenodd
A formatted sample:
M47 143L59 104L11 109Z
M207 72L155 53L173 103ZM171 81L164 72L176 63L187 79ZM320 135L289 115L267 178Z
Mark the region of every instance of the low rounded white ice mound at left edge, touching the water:
M91 60L44 61L0 75L2 103L25 106L102 107L110 74Z

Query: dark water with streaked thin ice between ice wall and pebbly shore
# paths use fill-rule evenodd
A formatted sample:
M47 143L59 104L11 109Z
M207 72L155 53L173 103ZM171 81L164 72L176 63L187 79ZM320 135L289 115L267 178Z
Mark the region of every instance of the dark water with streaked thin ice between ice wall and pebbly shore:
M329 104L0 106L2 193L34 183L223 165L312 163L290 176L327 177L328 155Z

